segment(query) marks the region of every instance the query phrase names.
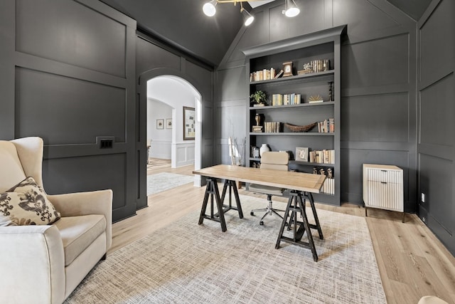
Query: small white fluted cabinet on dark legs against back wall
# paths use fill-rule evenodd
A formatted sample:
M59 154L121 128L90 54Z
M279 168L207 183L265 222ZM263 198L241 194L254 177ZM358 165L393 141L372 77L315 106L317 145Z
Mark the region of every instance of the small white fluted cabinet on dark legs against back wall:
M403 170L388 164L363 164L363 203L367 208L403 212Z

